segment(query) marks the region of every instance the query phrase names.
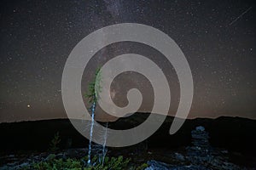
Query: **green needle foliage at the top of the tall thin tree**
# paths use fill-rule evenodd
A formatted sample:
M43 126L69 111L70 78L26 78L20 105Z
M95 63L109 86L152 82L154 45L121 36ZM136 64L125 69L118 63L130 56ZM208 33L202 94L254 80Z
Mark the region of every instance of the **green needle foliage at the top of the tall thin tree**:
M89 83L88 92L85 94L85 97L89 99L89 103L95 103L97 101L98 94L102 91L101 82L101 68L98 68L93 81Z

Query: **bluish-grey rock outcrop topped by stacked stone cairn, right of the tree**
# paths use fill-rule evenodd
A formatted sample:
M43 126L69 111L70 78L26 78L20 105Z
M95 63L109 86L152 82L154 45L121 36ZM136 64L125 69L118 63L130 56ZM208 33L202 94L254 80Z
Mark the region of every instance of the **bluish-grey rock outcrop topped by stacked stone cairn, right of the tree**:
M167 169L255 169L253 167L241 167L229 159L227 150L212 148L208 142L208 133L204 127L196 127L191 132L192 146L186 147L186 153L175 153L172 159L178 164L166 164L160 161L148 161L146 169L167 170Z

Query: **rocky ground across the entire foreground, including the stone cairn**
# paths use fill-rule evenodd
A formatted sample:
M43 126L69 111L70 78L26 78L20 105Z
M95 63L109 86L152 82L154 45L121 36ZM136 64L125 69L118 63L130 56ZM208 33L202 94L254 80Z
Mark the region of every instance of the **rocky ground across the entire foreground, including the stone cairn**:
M236 165L230 161L227 150L214 148L209 144L209 135L204 127L196 127L191 132L192 144L179 150L147 150L131 151L129 154L120 150L109 150L108 155L124 155L131 157L131 163L147 162L146 170L167 169L256 169L255 165ZM138 146L141 147L141 146ZM96 151L94 151L96 153ZM87 153L86 149L69 149L55 153L55 159L80 158ZM0 169L20 169L33 162L52 159L49 152L17 154L2 156ZM127 167L129 169L129 167Z

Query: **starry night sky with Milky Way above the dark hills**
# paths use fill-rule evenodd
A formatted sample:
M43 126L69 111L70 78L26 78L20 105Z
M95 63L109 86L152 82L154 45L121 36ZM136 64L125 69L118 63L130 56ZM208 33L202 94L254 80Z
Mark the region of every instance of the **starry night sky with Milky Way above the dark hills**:
M68 55L91 32L124 22L154 26L182 49L195 86L190 118L255 119L255 20L253 0L3 0L0 122L67 117L61 100L61 75ZM99 65L125 53L143 54L162 68L172 93L170 115L174 115L179 82L172 65L154 48L136 42L111 44L90 59L84 70L82 94ZM150 111L153 89L145 77L134 72L115 78L113 101L125 106L125 92L130 88L143 94L139 111ZM88 105L86 99L84 103Z

